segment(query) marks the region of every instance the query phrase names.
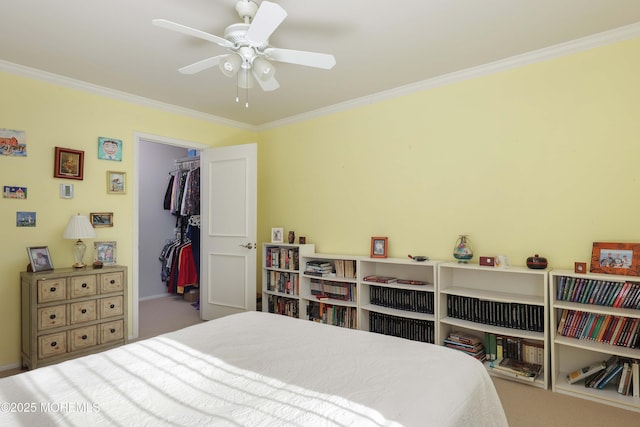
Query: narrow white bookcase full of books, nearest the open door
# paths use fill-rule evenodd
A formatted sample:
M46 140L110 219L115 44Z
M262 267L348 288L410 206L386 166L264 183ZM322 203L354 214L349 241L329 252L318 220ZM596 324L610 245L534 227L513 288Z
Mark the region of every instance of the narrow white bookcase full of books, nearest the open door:
M300 317L300 257L314 251L311 243L262 244L262 311Z

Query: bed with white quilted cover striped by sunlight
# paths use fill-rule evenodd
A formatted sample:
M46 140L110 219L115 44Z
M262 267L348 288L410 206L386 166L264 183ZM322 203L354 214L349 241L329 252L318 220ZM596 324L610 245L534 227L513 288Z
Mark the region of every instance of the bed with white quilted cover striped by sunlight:
M0 380L0 425L505 426L481 363L261 312Z

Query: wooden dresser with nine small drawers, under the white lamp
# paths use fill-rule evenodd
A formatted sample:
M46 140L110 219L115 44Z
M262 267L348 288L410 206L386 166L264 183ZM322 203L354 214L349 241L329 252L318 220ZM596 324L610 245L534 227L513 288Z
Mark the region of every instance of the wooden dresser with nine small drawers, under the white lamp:
M127 267L20 273L22 366L35 369L127 341Z

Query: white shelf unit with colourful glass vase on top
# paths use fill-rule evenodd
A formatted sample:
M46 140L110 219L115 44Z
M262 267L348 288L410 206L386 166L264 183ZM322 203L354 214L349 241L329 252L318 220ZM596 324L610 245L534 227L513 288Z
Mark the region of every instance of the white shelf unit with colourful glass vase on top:
M520 377L503 374L493 369L491 362L485 362L487 371L491 375L505 378L522 384L532 385L547 389L549 387L549 305L548 305L548 271L534 270L523 267L510 267L500 269L495 267L479 266L477 264L462 264L446 262L438 264L438 285L436 286L436 301L438 303L437 338L439 343L452 331L462 331L485 340L485 334L513 337L520 340L542 345L543 360L542 372L534 381ZM482 307L481 312L474 316L460 317L473 318L464 320L448 315L448 301L466 301L471 307L474 302L480 301L476 306ZM520 327L514 327L511 318L500 322L495 313L489 312L489 307L522 308L520 311ZM506 313L503 313L506 317ZM517 314L517 313L516 313ZM535 317L535 319L534 319ZM534 321L535 320L535 321ZM493 323L493 324L491 324ZM503 326L498 326L502 323ZM505 327L504 325L510 325ZM521 329L526 326L528 329ZM537 330L529 330L537 329Z

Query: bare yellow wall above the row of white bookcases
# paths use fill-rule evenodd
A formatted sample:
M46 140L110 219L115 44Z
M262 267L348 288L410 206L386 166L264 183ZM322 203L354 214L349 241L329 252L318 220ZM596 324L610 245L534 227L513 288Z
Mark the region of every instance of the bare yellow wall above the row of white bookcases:
M635 39L262 132L260 237L452 260L469 233L476 255L571 269L640 242L639 76Z

